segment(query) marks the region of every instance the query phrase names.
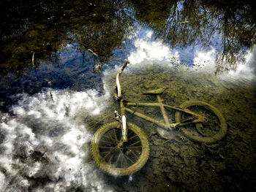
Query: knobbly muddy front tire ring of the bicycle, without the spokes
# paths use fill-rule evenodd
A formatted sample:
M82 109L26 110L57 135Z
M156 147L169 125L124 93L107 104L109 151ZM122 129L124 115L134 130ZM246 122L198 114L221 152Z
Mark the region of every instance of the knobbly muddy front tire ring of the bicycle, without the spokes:
M148 161L149 143L148 143L146 134L138 126L135 126L132 123L127 123L127 126L128 126L128 134L130 131L130 132L133 132L135 135L137 135L138 138L140 139L140 143L142 146L141 154L140 154L140 157L138 158L138 161L136 161L135 164L132 164L129 167L120 168L120 167L113 166L111 163L105 161L105 159L100 154L100 150L99 150L100 148L99 143L101 143L101 141L103 140L102 138L104 137L104 135L106 135L108 131L112 131L112 129L117 128L118 122L113 122L113 123L108 123L103 125L96 131L96 133L94 134L94 137L91 140L90 150L91 150L92 158L94 159L94 161L96 162L97 166L99 166L100 169L102 169L104 172L113 176L125 176L125 175L138 172L146 164L146 161ZM120 128L119 128L119 132L121 132ZM126 143L129 143L129 137L128 137L128 142ZM116 144L113 142L113 145L116 145Z

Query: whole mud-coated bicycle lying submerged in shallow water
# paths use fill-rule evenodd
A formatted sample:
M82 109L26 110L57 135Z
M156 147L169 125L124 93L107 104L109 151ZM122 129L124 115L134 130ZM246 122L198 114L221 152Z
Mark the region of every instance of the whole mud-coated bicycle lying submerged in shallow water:
M116 122L101 126L91 140L91 155L104 172L114 176L129 175L138 172L148 160L149 143L146 134L135 124L127 123L125 112L157 124L165 131L179 129L194 142L209 144L225 137L225 118L217 108L203 101L187 101L180 107L164 104L161 94L165 88L143 93L157 96L157 102L135 103L124 100L119 78L127 64L129 61L125 60L116 75L116 100L120 105L120 114L115 111ZM163 120L151 118L129 107L159 107ZM167 115L167 110L175 112L174 120Z

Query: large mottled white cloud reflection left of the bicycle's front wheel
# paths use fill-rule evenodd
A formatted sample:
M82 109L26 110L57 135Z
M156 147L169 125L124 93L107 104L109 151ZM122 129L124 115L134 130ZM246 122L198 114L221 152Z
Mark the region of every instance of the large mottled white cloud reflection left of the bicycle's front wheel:
M95 90L20 94L14 116L1 113L0 185L4 191L113 191L89 157L89 115L99 115L110 94ZM15 182L14 182L15 181Z

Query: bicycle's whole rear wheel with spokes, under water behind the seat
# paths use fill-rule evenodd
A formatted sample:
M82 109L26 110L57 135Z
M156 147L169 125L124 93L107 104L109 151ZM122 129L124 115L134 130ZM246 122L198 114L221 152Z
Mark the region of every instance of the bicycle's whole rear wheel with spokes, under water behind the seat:
M203 115L207 120L203 123L191 123L181 126L181 132L194 142L214 143L225 137L227 134L227 123L222 113L217 108L202 101L187 101L181 104L182 109L188 109ZM176 122L189 118L185 112L177 111Z

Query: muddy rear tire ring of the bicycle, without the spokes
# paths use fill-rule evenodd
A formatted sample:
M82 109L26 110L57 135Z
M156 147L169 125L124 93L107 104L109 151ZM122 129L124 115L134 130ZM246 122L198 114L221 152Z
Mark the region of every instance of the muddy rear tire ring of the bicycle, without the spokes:
M204 107L209 111L211 111L214 115L216 115L219 121L219 130L217 131L216 134L214 134L211 137L203 137L203 136L200 136L199 134L193 133L193 131L189 131L189 128L187 128L187 126L181 126L180 130L182 134L184 134L186 137L188 137L194 142L200 142L200 143L206 143L206 144L217 142L221 140L223 137L225 137L225 135L227 134L227 123L225 122L225 118L223 117L222 113L219 112L217 108L203 101L187 101L181 104L180 107L182 109L188 109L189 107L192 107L192 106ZM176 122L180 122L182 118L184 118L184 112L177 111L175 118L176 118ZM192 123L192 124L195 127L198 125L198 123ZM201 123L201 124L204 125L204 123Z

